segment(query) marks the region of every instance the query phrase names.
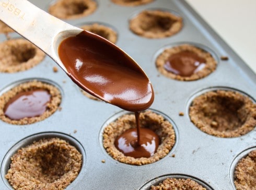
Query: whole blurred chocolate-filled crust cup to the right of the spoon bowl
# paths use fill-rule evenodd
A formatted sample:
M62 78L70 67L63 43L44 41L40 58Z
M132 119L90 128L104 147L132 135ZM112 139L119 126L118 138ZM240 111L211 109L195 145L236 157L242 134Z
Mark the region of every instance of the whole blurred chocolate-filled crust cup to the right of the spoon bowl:
M216 70L217 61L206 47L199 44L177 44L159 50L155 64L168 78L193 81Z

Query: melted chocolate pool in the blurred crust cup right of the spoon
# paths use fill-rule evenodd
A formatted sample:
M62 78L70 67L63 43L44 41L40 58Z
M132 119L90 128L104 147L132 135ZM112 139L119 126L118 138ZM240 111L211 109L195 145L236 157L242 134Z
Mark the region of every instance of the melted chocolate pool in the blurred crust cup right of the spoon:
M182 77L190 77L205 67L206 60L188 50L171 55L164 68Z

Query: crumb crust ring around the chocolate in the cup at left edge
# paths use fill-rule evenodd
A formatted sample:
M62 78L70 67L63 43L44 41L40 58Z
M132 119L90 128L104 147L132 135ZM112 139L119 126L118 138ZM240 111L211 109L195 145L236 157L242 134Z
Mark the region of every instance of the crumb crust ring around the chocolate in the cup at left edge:
M37 117L31 117L31 118L25 117L19 120L10 119L5 115L5 112L4 112L5 105L8 104L11 98L15 97L19 93L29 92L34 90L46 90L51 96L50 102L46 104L46 110L42 113L42 115ZM37 80L21 83L11 88L11 90L7 91L2 96L0 96L0 119L10 124L17 124L17 125L32 124L50 117L59 108L60 103L61 103L61 92L55 86L48 83L40 82Z

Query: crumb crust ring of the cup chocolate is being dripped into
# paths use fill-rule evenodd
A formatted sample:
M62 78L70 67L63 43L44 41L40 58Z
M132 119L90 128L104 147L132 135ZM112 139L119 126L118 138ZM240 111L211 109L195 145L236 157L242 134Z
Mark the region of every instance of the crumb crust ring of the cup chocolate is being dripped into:
M172 149L176 142L176 135L169 121L157 113L145 111L141 113L139 122L141 128L149 128L159 136L161 143L156 153L149 158L133 158L125 156L115 147L114 141L119 135L131 128L136 128L135 116L127 114L111 122L103 131L103 146L113 159L132 165L148 164L164 158Z

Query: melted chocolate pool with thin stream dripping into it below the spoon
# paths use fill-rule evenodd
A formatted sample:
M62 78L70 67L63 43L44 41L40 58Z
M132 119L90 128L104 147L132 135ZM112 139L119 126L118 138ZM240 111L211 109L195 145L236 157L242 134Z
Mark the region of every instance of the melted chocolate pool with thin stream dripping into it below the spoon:
M133 158L149 158L153 156L159 146L158 135L147 128L139 126L139 112L135 112L136 129L129 129L115 139L115 147L125 156Z

